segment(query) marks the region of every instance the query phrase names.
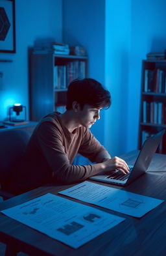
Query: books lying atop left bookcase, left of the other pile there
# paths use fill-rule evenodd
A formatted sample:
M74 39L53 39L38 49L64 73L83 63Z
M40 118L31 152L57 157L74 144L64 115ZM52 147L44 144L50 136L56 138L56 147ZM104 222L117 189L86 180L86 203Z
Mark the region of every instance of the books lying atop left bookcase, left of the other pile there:
M33 53L48 53L69 55L69 45L58 42L45 42L34 46Z

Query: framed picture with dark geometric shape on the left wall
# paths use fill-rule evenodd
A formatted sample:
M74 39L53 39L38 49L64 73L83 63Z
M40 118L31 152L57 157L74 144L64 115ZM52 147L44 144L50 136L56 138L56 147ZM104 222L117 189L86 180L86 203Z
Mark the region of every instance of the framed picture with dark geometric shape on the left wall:
M0 0L0 52L16 53L15 0Z

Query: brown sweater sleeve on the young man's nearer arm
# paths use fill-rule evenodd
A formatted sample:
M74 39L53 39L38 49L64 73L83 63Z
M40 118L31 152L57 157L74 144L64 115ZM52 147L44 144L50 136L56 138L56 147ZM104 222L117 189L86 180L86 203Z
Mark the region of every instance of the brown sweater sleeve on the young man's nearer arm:
M50 122L40 124L37 143L53 172L53 177L59 182L64 184L78 182L99 173L95 165L70 164L62 143L62 133Z

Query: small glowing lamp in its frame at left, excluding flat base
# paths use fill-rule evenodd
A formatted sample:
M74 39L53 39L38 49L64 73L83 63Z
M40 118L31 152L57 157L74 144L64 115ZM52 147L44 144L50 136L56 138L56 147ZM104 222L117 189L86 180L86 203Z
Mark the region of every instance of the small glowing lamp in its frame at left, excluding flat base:
M20 112L24 109L24 119L16 118ZM16 112L16 117L12 118L12 111ZM14 106L9 108L9 122L25 122L27 119L26 107L21 105L20 103L15 103Z

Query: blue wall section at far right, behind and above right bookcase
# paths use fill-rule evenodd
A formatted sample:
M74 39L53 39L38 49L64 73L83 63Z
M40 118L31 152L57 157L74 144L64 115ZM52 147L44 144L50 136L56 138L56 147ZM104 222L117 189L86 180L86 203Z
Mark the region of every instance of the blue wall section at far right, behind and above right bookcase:
M150 51L166 49L166 1L131 1L130 83L126 151L136 149L141 92L141 61ZM132 121L132 125L131 125Z

